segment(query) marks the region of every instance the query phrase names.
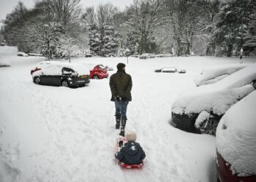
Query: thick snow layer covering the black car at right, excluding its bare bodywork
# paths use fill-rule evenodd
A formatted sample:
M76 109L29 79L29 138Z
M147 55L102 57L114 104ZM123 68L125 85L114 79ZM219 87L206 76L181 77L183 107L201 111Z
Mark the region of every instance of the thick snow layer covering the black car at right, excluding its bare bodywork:
M251 83L255 79L256 64L251 64L219 82L181 93L173 102L172 111L189 114L212 109L215 114L224 114L230 106L254 90Z

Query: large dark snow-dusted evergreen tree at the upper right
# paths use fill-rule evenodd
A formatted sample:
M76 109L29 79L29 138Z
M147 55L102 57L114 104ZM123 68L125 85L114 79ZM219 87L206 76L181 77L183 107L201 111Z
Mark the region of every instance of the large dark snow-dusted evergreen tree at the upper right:
M249 16L255 11L255 1L227 0L217 15L216 31L213 41L219 46L225 46L227 57L236 47L237 51L243 47L244 27L249 23Z

